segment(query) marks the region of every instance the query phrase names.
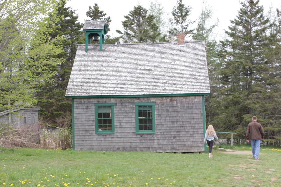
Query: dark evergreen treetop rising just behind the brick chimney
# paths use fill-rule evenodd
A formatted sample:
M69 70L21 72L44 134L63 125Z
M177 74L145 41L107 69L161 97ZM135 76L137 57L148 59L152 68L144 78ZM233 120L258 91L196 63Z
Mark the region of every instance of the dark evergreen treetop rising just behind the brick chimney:
M173 8L172 15L174 16L174 24L177 26L170 30L170 34L174 37L177 37L177 33L183 32L186 37L189 34L193 33L193 29L189 29L189 27L195 22L190 21L188 16L190 15L191 7L185 6L182 3L182 0L177 1L177 7Z

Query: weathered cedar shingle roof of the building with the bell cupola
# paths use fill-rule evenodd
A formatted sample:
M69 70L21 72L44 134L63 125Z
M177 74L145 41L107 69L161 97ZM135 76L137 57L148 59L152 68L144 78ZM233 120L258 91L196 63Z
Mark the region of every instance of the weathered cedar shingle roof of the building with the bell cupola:
M204 41L78 45L66 96L210 93Z

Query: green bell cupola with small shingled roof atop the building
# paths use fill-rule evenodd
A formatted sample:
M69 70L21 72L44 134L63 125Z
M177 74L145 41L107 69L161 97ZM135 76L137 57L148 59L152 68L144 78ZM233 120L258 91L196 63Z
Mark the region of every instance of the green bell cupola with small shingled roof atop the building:
M85 51L88 51L88 44L91 40L98 41L100 37L100 51L102 51L102 44L104 44L104 35L106 32L105 21L85 21L83 31L85 31Z

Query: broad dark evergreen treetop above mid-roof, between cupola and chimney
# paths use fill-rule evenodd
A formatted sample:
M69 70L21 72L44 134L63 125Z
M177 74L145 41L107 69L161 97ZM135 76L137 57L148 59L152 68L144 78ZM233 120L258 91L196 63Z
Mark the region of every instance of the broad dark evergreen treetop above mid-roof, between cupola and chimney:
M124 43L156 42L160 36L155 23L155 16L149 15L142 6L135 6L132 11L122 21L124 32L116 30L121 34Z

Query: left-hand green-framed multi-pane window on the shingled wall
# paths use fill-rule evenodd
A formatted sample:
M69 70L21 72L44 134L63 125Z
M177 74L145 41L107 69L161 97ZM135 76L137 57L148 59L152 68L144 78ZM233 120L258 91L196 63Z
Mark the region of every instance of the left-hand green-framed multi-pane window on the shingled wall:
M99 130L99 126L111 130ZM95 134L114 134L114 103L95 103Z

